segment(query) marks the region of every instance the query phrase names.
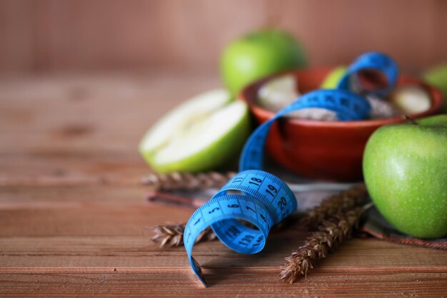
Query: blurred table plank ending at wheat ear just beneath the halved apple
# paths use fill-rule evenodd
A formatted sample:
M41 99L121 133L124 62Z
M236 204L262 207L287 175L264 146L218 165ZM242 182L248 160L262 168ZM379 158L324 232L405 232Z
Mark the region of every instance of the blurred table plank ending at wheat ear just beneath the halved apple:
M99 150L34 150L3 154L0 186L132 185L150 173L138 153ZM4 191L10 190L5 188Z

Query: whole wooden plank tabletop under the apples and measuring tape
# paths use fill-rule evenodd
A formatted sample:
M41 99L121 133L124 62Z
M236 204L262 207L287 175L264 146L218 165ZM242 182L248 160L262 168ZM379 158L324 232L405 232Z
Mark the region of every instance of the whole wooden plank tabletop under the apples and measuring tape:
M447 253L354 239L298 284L278 282L306 235L271 235L258 255L197 245L211 287L183 247L160 251L150 227L191 210L149 205L136 152L156 118L216 76L161 73L0 79L0 297L447 295Z

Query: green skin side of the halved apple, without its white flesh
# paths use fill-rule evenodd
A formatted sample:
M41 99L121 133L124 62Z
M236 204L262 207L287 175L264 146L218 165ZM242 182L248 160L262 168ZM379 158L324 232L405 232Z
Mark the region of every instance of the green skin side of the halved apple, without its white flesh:
M246 107L241 120L228 130L215 143L210 144L200 152L187 158L171 163L157 163L156 154L140 151L144 159L157 173L189 172L198 173L208 170L216 170L241 153L248 135L251 133L251 120L248 107ZM194 140L191 140L194 141Z

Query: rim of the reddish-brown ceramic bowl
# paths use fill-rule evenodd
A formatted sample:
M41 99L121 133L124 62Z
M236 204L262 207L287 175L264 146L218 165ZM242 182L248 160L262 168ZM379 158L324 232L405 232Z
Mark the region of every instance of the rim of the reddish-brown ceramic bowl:
M261 78L253 83L250 83L248 86L244 87L240 93L238 93L237 98L246 102L248 107L253 111L253 113L259 118L272 118L275 113L272 111L268 111L265 108L261 108L256 103L254 103L255 99L250 98L249 93L253 92L252 89L255 89L256 94L258 93L258 89L273 78L278 78L279 76L284 76L287 74L293 74L294 77L298 75L298 73L306 73L306 72L322 72L322 71L331 71L332 69L338 66L330 66L330 67L309 67L309 68L300 68L293 69L290 71L281 71L278 73L273 73L270 76L266 76ZM429 94L431 98L431 106L428 110L423 111L421 113L408 115L410 118L418 119L428 115L434 115L436 112L440 112L443 107L443 96L441 91L437 88L428 85L423 82L420 78L416 78L413 76L408 76L406 74L400 74L398 78L398 82L402 79L413 81L413 85L418 85L423 87ZM399 83L398 83L399 85ZM393 118L383 118L383 119L374 119L374 120L353 120L353 121L323 121L323 120L309 120L309 119L296 119L296 118L286 118L288 123L292 125L300 125L300 126L308 126L308 127L318 127L318 128L362 128L362 127L376 127L382 126L392 123L400 123L406 120L406 118L402 116L397 116Z

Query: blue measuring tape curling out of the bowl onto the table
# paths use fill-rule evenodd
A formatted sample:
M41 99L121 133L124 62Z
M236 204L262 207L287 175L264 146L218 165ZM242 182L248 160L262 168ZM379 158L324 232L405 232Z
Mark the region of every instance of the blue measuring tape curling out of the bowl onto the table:
M283 115L303 108L326 108L344 121L368 118L371 106L364 97L366 92L357 86L357 93L354 93L351 87L353 83L358 84L355 80L363 70L377 71L387 81L383 88L368 91L371 95L384 96L396 84L398 67L393 59L383 53L361 55L348 68L337 89L306 93L258 126L243 148L240 173L191 215L184 230L184 245L194 273L205 286L201 267L191 255L202 231L211 226L219 240L231 250L255 254L266 244L271 227L296 210L296 197L288 185L261 170L263 147L271 125ZM250 222L256 229L247 227L241 220Z

